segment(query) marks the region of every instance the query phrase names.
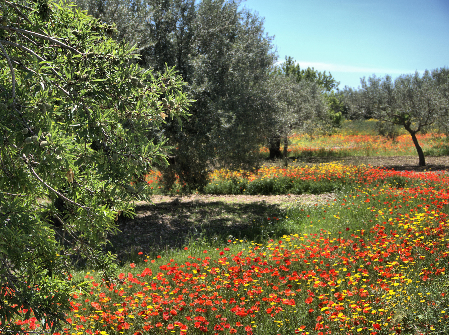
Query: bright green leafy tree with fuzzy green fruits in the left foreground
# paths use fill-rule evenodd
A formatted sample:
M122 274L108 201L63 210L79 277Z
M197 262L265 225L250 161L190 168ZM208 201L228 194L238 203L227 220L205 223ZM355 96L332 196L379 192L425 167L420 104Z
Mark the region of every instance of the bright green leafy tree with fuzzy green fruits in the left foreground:
M181 124L191 100L174 69L132 64L115 27L74 4L2 4L0 332L22 331L13 319L31 313L55 331L87 287L71 280L74 257L114 280L101 248L120 213L150 200L142 177L170 152L148 134Z

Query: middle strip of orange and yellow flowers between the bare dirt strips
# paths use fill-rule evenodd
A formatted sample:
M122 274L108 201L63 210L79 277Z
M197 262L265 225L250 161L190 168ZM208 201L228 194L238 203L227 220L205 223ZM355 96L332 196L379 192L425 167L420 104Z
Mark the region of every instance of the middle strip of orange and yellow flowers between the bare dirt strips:
M253 171L214 170L206 194L321 194L344 187L388 182L393 186L412 186L414 183L434 183L435 174L413 171L395 171L374 168L370 165L344 165L341 162L305 166L262 167ZM163 185L159 171L146 176L149 186L158 191ZM175 183L173 193L182 191L184 185Z

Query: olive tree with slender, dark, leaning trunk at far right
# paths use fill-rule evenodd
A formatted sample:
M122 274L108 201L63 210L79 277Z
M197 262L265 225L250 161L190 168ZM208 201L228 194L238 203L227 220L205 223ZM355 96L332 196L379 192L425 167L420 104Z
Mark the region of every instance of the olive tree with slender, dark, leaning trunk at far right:
M443 68L444 69L444 68ZM353 114L367 115L379 120L379 126L393 129L403 126L409 132L419 157L419 166L425 166L424 152L416 134L431 126L449 122L447 86L448 80L438 74L440 70L425 71L423 75L403 74L394 81L392 77L369 77L361 79L361 88L349 95L348 102Z

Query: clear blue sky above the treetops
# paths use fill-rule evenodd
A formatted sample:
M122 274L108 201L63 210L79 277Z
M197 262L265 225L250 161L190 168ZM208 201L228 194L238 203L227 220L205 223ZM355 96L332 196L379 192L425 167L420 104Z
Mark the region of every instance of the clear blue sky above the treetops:
M247 0L275 35L279 61L330 71L357 87L362 76L449 66L449 0Z

